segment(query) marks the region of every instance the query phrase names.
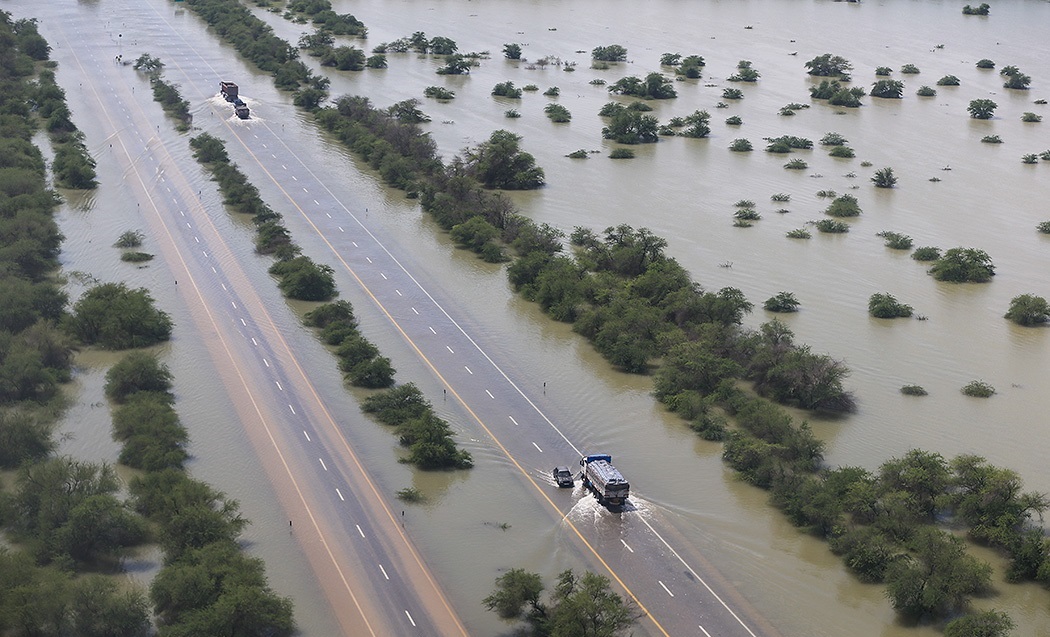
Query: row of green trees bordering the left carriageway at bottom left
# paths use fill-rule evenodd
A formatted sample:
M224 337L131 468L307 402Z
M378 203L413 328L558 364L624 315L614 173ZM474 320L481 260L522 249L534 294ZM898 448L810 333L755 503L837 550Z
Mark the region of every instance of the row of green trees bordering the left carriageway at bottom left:
M129 484L130 506L149 521L164 550L149 587L156 634L291 635L291 600L270 588L262 561L242 550L248 521L237 503L185 471L189 436L171 387L167 366L143 352L106 374L120 461L143 471Z

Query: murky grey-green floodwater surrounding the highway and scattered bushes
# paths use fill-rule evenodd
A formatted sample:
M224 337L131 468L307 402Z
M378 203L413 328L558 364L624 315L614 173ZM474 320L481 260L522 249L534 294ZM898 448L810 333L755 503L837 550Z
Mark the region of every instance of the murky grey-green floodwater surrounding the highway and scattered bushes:
M63 232L69 237L63 253L68 270L162 290L170 279L163 262L138 270L121 263L116 249L100 248L143 224L138 211L123 204L120 175L107 170L104 161L105 141L92 133L98 113L90 112L86 97L77 88L89 79L78 78L65 62L67 51L51 38L48 20L105 25L78 46L109 47L131 58L146 51L161 57L168 63L167 79L182 84L184 97L198 113L195 125L213 134L223 130L204 102L214 93L214 82L201 85L195 76L191 82L182 75L181 65L200 66L204 61L215 69L215 82L235 80L253 115L266 119L272 127L279 121L289 146L316 157L311 168L343 201L358 210L369 209L370 228L399 258L405 257L410 269L425 272L447 291L457 301L457 319L504 368L525 381L525 389L570 439L616 458L617 467L634 485L638 514L656 516L659 524L673 528L782 634L903 637L934 633L929 628L898 625L881 587L858 583L822 543L800 535L770 508L764 492L736 482L721 464L718 445L697 440L655 404L648 379L611 370L567 325L549 321L533 305L516 298L499 267L456 251L412 201L385 189L345 151L327 143L294 110L290 97L273 89L268 77L251 70L231 49L217 44L196 18L173 6L150 0L136 10L131 3L114 0L47 5L9 2L5 7L16 17L36 15L43 20L42 31L56 46L52 57L61 63L59 81L100 160L103 187L92 200L62 212ZM1002 318L1010 299L1018 294L1050 297L1046 276L1050 236L1035 231L1036 224L1050 220L1050 163L1021 163L1023 154L1050 149L1050 119L1042 124L1021 122L1024 111L1050 115L1050 108L1033 103L1050 99L1050 71L1045 63L1050 55L1045 39L1050 3L999 3L987 18L965 17L959 4L932 0L861 4L355 0L335 2L335 6L339 13L355 14L369 26L366 43L357 43L365 48L423 30L430 37L456 40L463 51L491 52L491 59L482 61L469 77L437 76L439 61L415 54L388 56L385 70L328 75L333 94L364 94L378 106L408 98L422 100L423 88L430 85L455 90L456 99L447 104L424 100L421 106L433 118L428 129L445 156L485 140L497 128L521 134L524 148L536 155L548 181L543 190L512 195L527 216L566 232L578 225L649 227L668 238L668 252L702 285L742 290L759 307L748 318L750 325L772 318L760 310L765 298L780 291L794 293L801 311L780 318L800 342L845 360L853 369L847 384L857 395L859 411L836 420L810 419L827 442L830 464L875 468L914 447L946 456L979 453L1016 470L1029 489L1050 491L1042 443L1050 413L1050 330L1016 327ZM611 13L616 16L603 19ZM288 40L295 41L304 30L279 16L259 15ZM508 42L522 43L529 60L554 56L579 65L573 72L555 66L529 69L525 63L503 59L500 51ZM607 44L626 46L629 62L594 70L589 68L589 55L578 52ZM653 114L666 122L673 115L707 109L712 114L711 136L663 139L655 145L635 147L637 157L632 161L608 160L612 146L601 139L603 122L596 112L610 98L604 87L589 82L601 78L611 84L627 75L644 76L658 70L660 54L675 51L704 56L704 79L675 83L679 97L651 103ZM865 98L862 108L850 110L811 102L807 87L813 81L803 64L824 52L849 59L854 83L860 86L875 80L876 66L894 68L894 79L905 82L904 99ZM998 72L974 67L981 58L990 58L999 66L1018 66L1032 76L1031 90L1003 89ZM761 72L759 82L726 82L743 59ZM921 73L896 71L906 63L917 65ZM146 107L159 113L158 107L148 106L145 82L130 69L127 73L129 82L141 82ZM936 98L915 95L919 86L934 86L945 75L958 76L961 86L936 87ZM514 101L491 97L491 87L506 80L519 87L536 84L540 91ZM559 98L541 94L550 86L561 89ZM716 108L727 86L741 88L744 99ZM966 105L981 98L999 104L995 119L968 118ZM544 116L543 107L552 101L572 112L571 123L555 125ZM777 114L793 102L812 107L795 116ZM509 108L522 116L504 118ZM723 121L730 115L742 118L743 125L726 126ZM184 166L191 167L185 136L172 132L160 116L158 122L164 123L158 131L163 143ZM761 151L762 137L793 134L816 142L830 131L847 137L857 157L832 158L818 146L791 155L804 158L808 169L790 171L782 168L790 157ZM982 144L981 137L988 134L1000 135L1004 143ZM757 150L730 152L727 147L736 137L751 140ZM586 161L564 157L580 148L602 152ZM265 173L248 164L247 157L237 156L232 146L231 153L264 197L280 209L284 199ZM862 167L862 162L872 166ZM868 177L885 166L898 175L898 187L875 189ZM189 172L201 174L192 168ZM856 176L847 177L847 173ZM931 182L934 177L940 181ZM255 259L249 229L226 219L218 212L220 197L205 176L198 178L194 185L216 211L216 222L229 232L238 257ZM863 214L848 221L850 232L845 235L814 231L810 240L785 238L789 230L823 216L827 200L816 196L819 190L854 194ZM770 195L774 193L788 193L791 201L773 203ZM738 199L756 201L763 218L754 227L732 226L733 203ZM778 208L790 212L777 214ZM286 221L309 254L327 258L323 245L310 236L296 215L287 214ZM910 235L916 246L984 250L995 263L996 276L986 284L939 283L907 253L883 246L876 233L886 230ZM260 294L273 299L272 306L279 307L265 263L258 259L253 280ZM440 397L436 380L354 282L339 275L338 283L360 314L365 334L394 359L399 379L414 380L428 396ZM928 320L869 318L867 299L877 292L895 295ZM275 510L273 487L253 466L253 451L242 440L233 409L217 395L216 373L208 353L194 342L187 312L167 306L163 296L159 298L184 327L176 330L170 354L165 356L177 379L180 413L194 442L194 473L242 501L246 515L254 521L247 534L251 549L267 560L274 587L295 597L303 634L332 634L333 623L317 586L294 539L280 530L282 514ZM355 397L339 387L334 361L298 327L294 310L274 315L297 352L313 366L332 369L332 378L320 387L326 401L356 409ZM64 449L74 451L76 441L83 441L92 458L105 456L116 448L98 436L99 427L108 426L103 418L108 413L91 404L102 400L104 370L100 366L108 361L83 357L81 363L82 406L67 418L74 439ZM989 382L998 394L987 400L962 396L959 388L974 379ZM899 388L904 384L923 385L929 396L902 396ZM526 495L506 459L484 433L455 406L439 407L474 453L474 470L412 471L394 462L396 441L378 426L354 430L352 442L381 488L393 493L413 485L429 496L430 504L408 510L410 533L471 633L499 634L506 632L504 624L480 600L501 569L527 566L549 579L565 568L585 565L570 548L564 529L552 526L542 507ZM220 455L209 453L215 448L223 449ZM550 464L571 460L552 459ZM571 513L584 529L582 521L593 515L592 501L586 497ZM1006 585L1000 578L996 594L979 600L978 606L1010 613L1018 635L1050 635L1050 596L1043 589Z

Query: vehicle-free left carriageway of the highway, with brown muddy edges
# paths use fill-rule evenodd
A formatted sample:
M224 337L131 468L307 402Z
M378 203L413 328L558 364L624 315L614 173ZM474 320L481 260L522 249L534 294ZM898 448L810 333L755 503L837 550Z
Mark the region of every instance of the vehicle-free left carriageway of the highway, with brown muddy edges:
M167 294L191 309L246 432L272 480L288 487L278 491L290 517L300 522L293 531L345 634L466 635L212 224L185 167L154 135L156 124L143 110L146 91L136 95L133 76L111 51L91 44L98 34L54 21L42 31L63 49L64 63L90 78L82 88L101 113L102 130L88 131L89 141L107 143L97 160L123 169L124 189L174 274Z

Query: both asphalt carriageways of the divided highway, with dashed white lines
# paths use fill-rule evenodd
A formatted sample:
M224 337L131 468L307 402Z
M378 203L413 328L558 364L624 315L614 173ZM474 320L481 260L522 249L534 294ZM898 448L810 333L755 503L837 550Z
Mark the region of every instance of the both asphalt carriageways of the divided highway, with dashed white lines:
M152 28L164 27L165 16L150 19ZM54 38L56 25L46 26L45 35ZM98 108L107 113L112 160L127 166L129 190L147 209L154 231L166 237L162 252L180 281L173 292L177 289L174 293L194 309L197 330L215 341L216 365L227 371L231 397L272 480L291 485L282 492L282 505L295 519L310 521L311 528L301 531L310 535L303 546L346 634L465 634L311 383L312 374L331 369L303 369L276 330L270 310L189 187L185 167L155 143L156 123L145 114L145 95L133 93L129 75L108 55L98 55L97 47L78 54L77 44L88 34L77 25L62 28L70 29L62 34L65 45L83 55L78 64L91 78ZM223 78L203 57L192 50L162 57L169 73L185 75L178 83L187 99L196 103L217 92ZM506 371L512 361L494 360L486 353L489 345L456 320L457 295L469 291L442 290L424 271L406 267L411 255L399 259L397 246L387 247L373 234L363 211L339 200L311 171L310 158L282 142L280 129L261 120L237 121L229 106L210 104L227 124L231 156L257 164L286 197L271 205L286 214L294 209L322 238L331 250L322 260L338 263L358 282L449 399L462 404L510 461L523 493L547 505L551 523L570 529L582 558L645 613L648 632L776 634L702 555L662 524L658 513L628 506L622 513L601 510L597 518L573 515L578 498L589 495L579 487L571 493L556 490L547 471L566 458L597 450L569 440Z

